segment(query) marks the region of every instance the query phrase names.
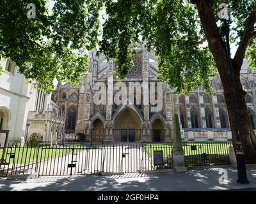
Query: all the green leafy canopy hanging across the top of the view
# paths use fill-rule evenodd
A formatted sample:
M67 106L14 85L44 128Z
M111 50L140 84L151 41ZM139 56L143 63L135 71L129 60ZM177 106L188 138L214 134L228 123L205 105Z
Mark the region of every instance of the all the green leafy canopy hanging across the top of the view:
M193 4L196 2L55 0L50 13L46 0L35 0L36 18L29 19L26 6L30 1L3 0L0 57L15 61L29 82L51 91L54 78L77 84L88 66L86 50L97 45L99 52L117 61L116 75L125 78L136 43L142 38L148 50L154 50L159 59L159 79L181 93L200 85L209 91L209 77L216 74L216 59L214 62L209 46L204 43L207 39ZM209 2L216 14L220 1ZM227 0L226 3L232 8L232 40L239 45L248 18L255 10L255 0ZM105 10L102 33L101 10ZM214 19L215 24L221 24L217 14ZM246 44L254 68L255 42L250 40Z

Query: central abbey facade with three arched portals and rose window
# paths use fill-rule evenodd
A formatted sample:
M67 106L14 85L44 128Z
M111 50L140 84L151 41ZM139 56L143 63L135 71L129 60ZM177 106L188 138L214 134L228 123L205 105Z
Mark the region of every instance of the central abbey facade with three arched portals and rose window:
M120 89L120 82L113 74L115 61L107 61L104 55L96 56L95 51L90 53L89 58L88 73L82 76L79 87L73 87L69 83L58 84L57 89L52 92L60 111L65 112L66 131L83 133L86 140L95 142L171 141L173 111L179 112L178 98L163 83L163 91L160 91L163 94L163 108L159 112L152 111L156 105L150 103L150 94L157 99L159 89L155 78L158 75L157 58L153 52L147 52L143 47L138 48L137 54L132 58L134 66L127 79L122 82L127 87L131 82L139 83L141 94L136 99L135 92L131 99L127 93L127 103L121 105L111 103ZM97 82L106 85L106 104L93 103ZM140 100L140 104L129 104L131 100ZM73 126L74 122L76 127Z

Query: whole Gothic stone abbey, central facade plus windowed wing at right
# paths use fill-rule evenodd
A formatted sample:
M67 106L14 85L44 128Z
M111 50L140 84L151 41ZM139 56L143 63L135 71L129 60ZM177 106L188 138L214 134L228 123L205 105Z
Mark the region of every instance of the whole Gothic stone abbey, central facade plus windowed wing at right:
M136 55L132 57L134 66L130 68L127 79L122 80L129 90L133 89L129 87L129 83L141 84L141 104L134 105L129 104L129 94L127 104L112 103L122 89L118 84L120 80L113 73L115 61L107 61L103 54L97 56L95 51L90 52L89 58L88 73L82 75L78 87L70 83L59 83L52 92L52 98L60 106L60 112L66 116L67 133L83 133L86 140L94 142L170 142L173 113L178 113L185 140L232 138L220 77L211 78L214 94L206 94L200 88L188 96L177 96L172 94L172 90L164 82L163 108L156 112L154 104L150 103L150 94L159 99L155 78L159 71L154 52L147 52L143 45L138 46ZM241 81L248 92L246 103L255 128L255 75L247 68L246 61L241 69ZM93 100L99 92L99 82L105 85L107 93L107 103L103 105L96 105ZM154 85L150 85L153 83ZM100 90L102 91L102 87ZM134 94L134 102L136 100Z

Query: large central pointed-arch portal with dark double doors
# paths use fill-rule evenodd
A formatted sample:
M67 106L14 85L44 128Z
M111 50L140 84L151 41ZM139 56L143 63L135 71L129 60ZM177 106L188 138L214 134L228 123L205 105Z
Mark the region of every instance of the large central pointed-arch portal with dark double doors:
M115 120L115 139L121 142L140 140L141 121L137 113L127 108L119 113Z

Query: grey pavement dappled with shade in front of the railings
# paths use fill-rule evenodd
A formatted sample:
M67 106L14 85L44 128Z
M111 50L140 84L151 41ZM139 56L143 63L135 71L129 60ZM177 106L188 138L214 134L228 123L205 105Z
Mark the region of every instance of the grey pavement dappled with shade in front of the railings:
M256 191L256 164L246 165L246 170L250 184L236 182L236 168L215 166L186 172L1 178L0 191Z

